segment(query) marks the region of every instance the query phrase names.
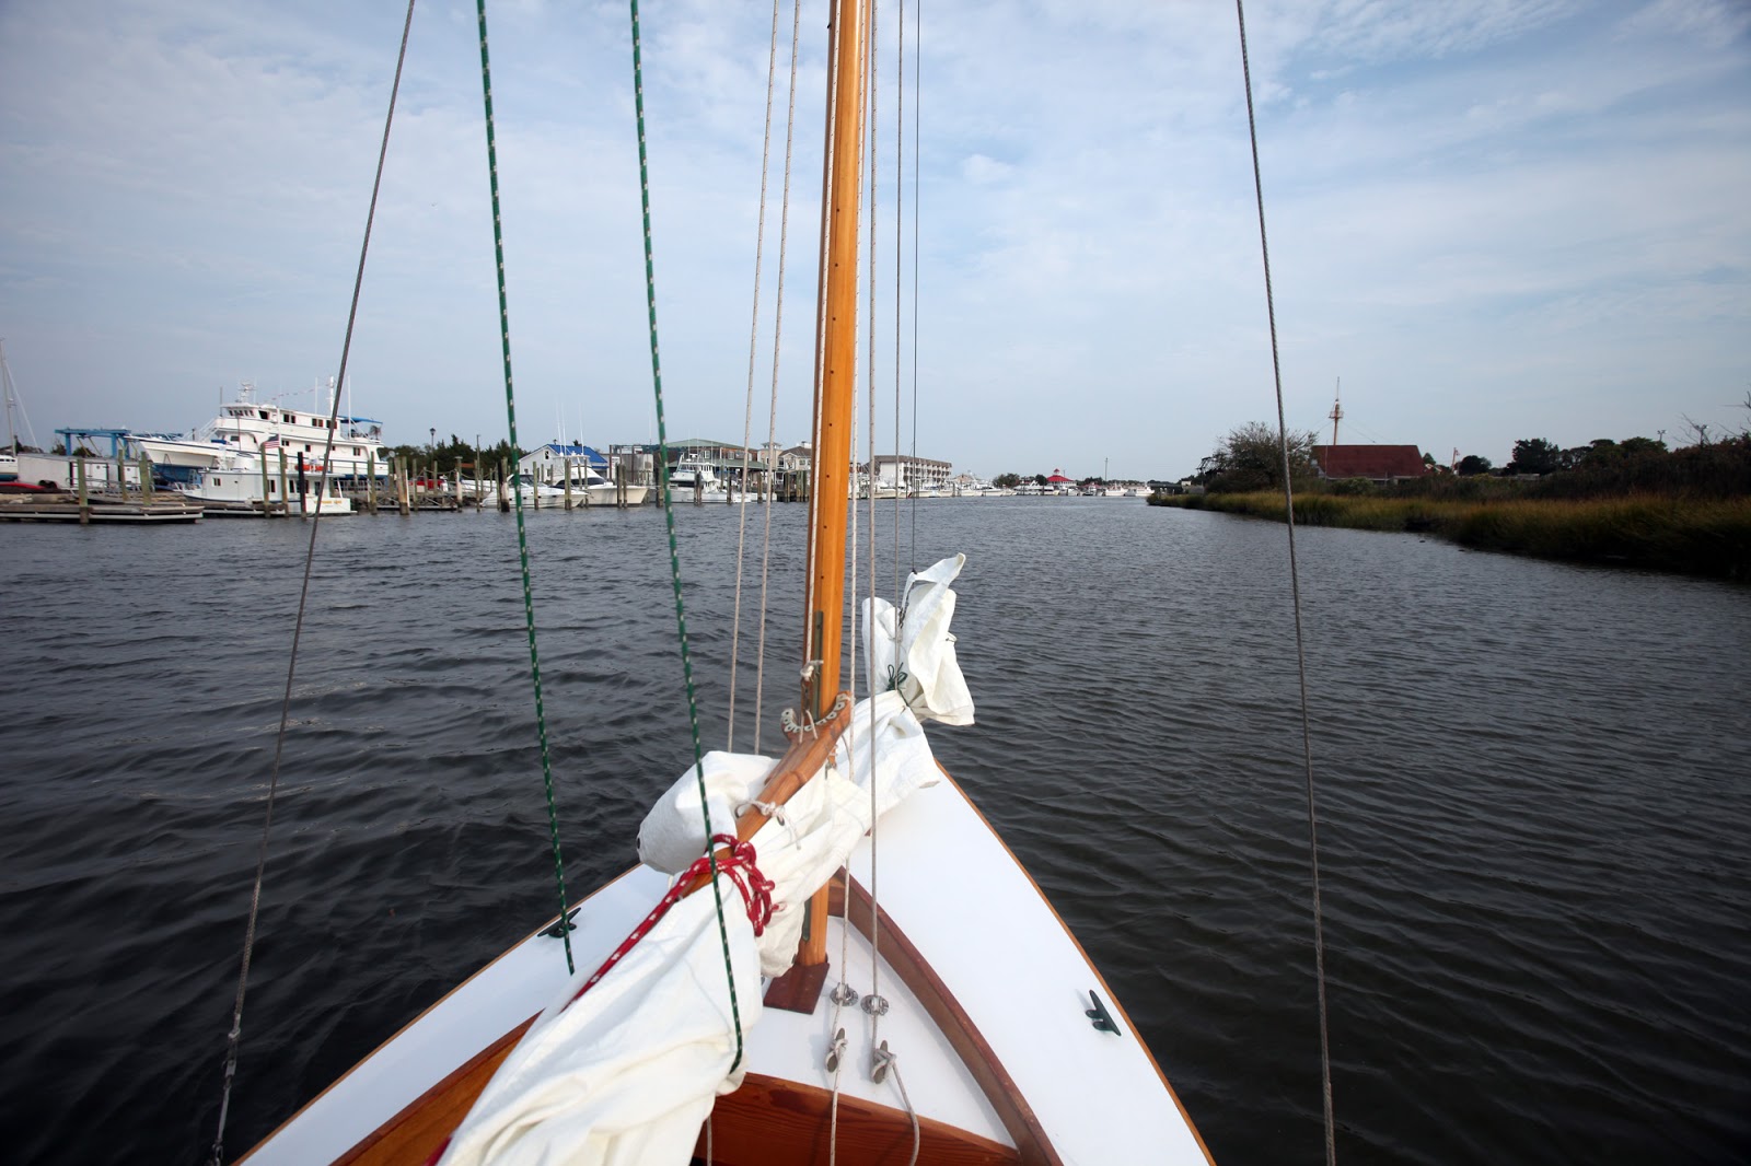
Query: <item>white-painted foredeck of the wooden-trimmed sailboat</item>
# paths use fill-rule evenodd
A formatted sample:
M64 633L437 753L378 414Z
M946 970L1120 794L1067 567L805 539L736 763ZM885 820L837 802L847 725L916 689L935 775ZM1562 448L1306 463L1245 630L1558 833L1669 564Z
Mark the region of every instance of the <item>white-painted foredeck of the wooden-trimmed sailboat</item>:
M1038 888L951 783L919 790L883 816L881 910L965 1008L1016 1091L1065 1162L1206 1162L1191 1120L1138 1040L1100 973ZM872 884L868 840L851 877ZM637 867L581 903L573 952L588 968L620 944L667 889L667 877ZM946 888L953 888L949 893ZM977 903L977 909L970 905ZM842 919L828 923L828 954L840 956ZM893 947L895 937L884 942ZM851 933L846 979L872 989L870 949ZM765 1008L749 1033L749 1073L832 1089L823 1066L833 1005L828 975L814 1014ZM567 982L555 938L534 933L452 991L306 1105L249 1157L256 1166L333 1162L513 1028L546 1007ZM991 1141L1016 1138L923 1001L881 965L890 1012L881 1036L900 1056L919 1117ZM1122 1029L1096 1031L1084 1008L1098 991ZM893 1078L868 1078L868 1017L847 1008L840 1075L846 1098L902 1108ZM746 1089L748 1085L744 1085ZM720 1108L732 1105L720 1099ZM904 1120L904 1117L900 1119ZM902 1155L904 1161L904 1155Z

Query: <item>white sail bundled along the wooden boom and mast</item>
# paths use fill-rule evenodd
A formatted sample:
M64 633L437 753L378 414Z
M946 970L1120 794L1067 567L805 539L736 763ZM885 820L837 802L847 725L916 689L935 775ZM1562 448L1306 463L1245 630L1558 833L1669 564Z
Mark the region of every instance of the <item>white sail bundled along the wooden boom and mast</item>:
M965 557L907 583L895 611L865 604L872 685L828 762L753 835L760 872L774 882L772 919L756 937L742 896L718 875L728 965L746 1033L760 1017L762 977L783 973L797 951L804 903L844 865L879 816L939 779L919 716L963 725L972 697L954 658L949 583ZM890 671L891 669L891 671ZM758 798L776 762L707 753L700 762L714 833L734 833L737 811ZM639 828L639 860L679 874L706 849L699 776L681 774ZM874 788L874 798L872 798ZM443 1162L473 1166L685 1164L713 1098L734 1092L735 1061L725 951L709 889L679 900L615 966L578 996L581 966L480 1094Z

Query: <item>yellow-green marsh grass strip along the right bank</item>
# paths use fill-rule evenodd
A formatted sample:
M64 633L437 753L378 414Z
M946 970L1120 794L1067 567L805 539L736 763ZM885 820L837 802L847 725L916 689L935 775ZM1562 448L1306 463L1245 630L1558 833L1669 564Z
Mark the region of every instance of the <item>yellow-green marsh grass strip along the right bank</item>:
M1283 520L1283 495L1182 494L1150 506ZM1751 579L1751 497L1688 501L1627 495L1585 501L1296 497L1296 522L1355 530L1411 530L1476 550Z

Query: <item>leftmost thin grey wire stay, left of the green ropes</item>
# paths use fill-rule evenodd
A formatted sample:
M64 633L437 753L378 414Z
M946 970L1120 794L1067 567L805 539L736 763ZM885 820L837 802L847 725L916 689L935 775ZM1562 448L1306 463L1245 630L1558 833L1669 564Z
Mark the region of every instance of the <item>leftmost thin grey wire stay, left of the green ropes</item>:
M268 872L268 837L273 832L273 802L280 790L280 760L285 755L285 728L292 714L292 681L298 676L298 644L305 632L305 611L310 606L310 572L317 558L317 530L322 525L322 499L327 495L329 466L334 457L334 429L340 417L340 394L347 385L347 357L352 355L352 329L359 319L359 292L364 287L364 259L371 250L371 224L376 221L376 196L383 189L383 165L389 158L389 130L396 123L396 96L401 93L401 68L408 60L408 32L413 28L413 4L401 21L401 49L396 53L396 79L389 86L389 112L383 116L383 140L376 149L376 177L371 180L371 203L364 214L364 240L359 243L359 268L352 278L352 303L347 308L347 334L340 345L340 380L329 401L327 441L322 446L322 478L317 483L317 508L310 516L310 546L305 551L305 576L298 588L298 616L292 622L292 650L285 660L285 692L280 697L280 727L273 737L273 767L268 776L268 805L263 812L261 846L256 853L256 881L249 893L249 923L243 928L243 956L236 973L236 1001L231 1007L231 1029L226 1033L224 1085L219 1094L219 1124L214 1131L212 1166L224 1161L224 1126L231 1113L231 1084L236 1080L236 1054L243 1038L243 996L249 991L249 965L256 952L256 923L261 919L261 884ZM68 443L72 445L72 443ZM375 488L375 483L373 483ZM263 502L266 506L266 502Z

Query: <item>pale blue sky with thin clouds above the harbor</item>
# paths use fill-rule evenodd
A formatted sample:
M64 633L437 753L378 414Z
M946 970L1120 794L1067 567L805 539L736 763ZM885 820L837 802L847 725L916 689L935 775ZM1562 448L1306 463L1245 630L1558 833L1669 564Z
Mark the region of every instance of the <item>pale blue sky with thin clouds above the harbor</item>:
M791 12L762 228L772 9L643 5L671 439L809 436L825 0L786 135ZM338 373L403 14L0 2L0 338L40 443ZM1177 478L1275 422L1234 7L912 0L904 123L877 23L876 450ZM651 441L627 7L489 32L518 438ZM1254 0L1247 35L1290 427L1329 439L1340 380L1341 441L1441 462L1751 424L1751 5ZM473 5L413 16L348 385L390 443L506 434Z

